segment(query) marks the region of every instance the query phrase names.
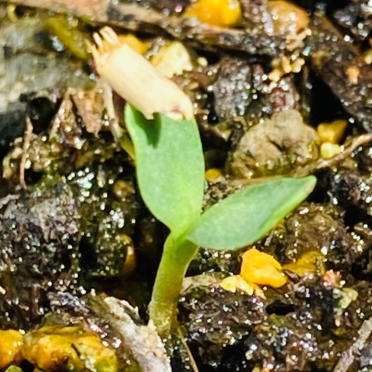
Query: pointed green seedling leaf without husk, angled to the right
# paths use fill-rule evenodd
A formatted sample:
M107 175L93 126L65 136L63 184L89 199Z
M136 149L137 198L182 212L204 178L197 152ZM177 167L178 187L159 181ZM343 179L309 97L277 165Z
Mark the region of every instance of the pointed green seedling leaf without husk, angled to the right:
M254 243L303 201L316 178L281 178L245 187L195 221L185 238L205 248L237 249Z

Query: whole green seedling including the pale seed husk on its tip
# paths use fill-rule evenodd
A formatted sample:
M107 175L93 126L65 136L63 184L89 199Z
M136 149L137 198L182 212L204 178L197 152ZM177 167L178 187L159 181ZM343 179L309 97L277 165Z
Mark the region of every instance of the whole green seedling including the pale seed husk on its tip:
M198 248L232 250L254 243L308 196L316 179L248 186L202 214L205 166L189 97L111 28L103 27L93 39L96 45L88 46L98 73L128 102L125 122L142 199L170 229L148 308L166 336L177 327L182 281Z

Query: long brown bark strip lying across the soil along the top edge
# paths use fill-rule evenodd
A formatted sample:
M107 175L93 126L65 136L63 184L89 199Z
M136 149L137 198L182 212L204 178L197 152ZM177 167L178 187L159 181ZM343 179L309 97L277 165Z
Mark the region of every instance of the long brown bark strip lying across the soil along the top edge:
M0 2L5 2L0 0ZM106 24L131 31L159 33L163 31L180 40L192 39L193 43L208 48L219 47L244 51L248 54L280 56L288 41L281 36L253 34L241 29L221 28L207 23L195 22L179 16L165 16L153 9L134 4L108 0L15 0L17 5L47 9L57 13L68 13L77 17L88 17L98 24Z

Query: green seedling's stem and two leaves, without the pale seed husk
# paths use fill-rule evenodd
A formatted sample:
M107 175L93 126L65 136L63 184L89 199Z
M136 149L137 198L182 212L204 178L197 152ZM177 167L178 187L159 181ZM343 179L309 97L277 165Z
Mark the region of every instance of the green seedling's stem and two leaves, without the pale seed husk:
M153 215L170 229L148 308L161 335L177 326L187 267L200 246L235 250L254 243L314 189L316 178L280 178L244 187L202 213L204 158L195 119L148 120L126 105L138 186Z

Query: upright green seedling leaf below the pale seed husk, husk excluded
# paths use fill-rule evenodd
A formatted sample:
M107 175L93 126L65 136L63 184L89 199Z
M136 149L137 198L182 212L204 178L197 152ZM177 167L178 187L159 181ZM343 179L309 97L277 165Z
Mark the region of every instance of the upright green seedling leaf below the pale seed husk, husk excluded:
M126 105L125 122L142 199L173 232L185 231L200 216L204 193L204 158L195 119L174 121L158 114L147 120Z

